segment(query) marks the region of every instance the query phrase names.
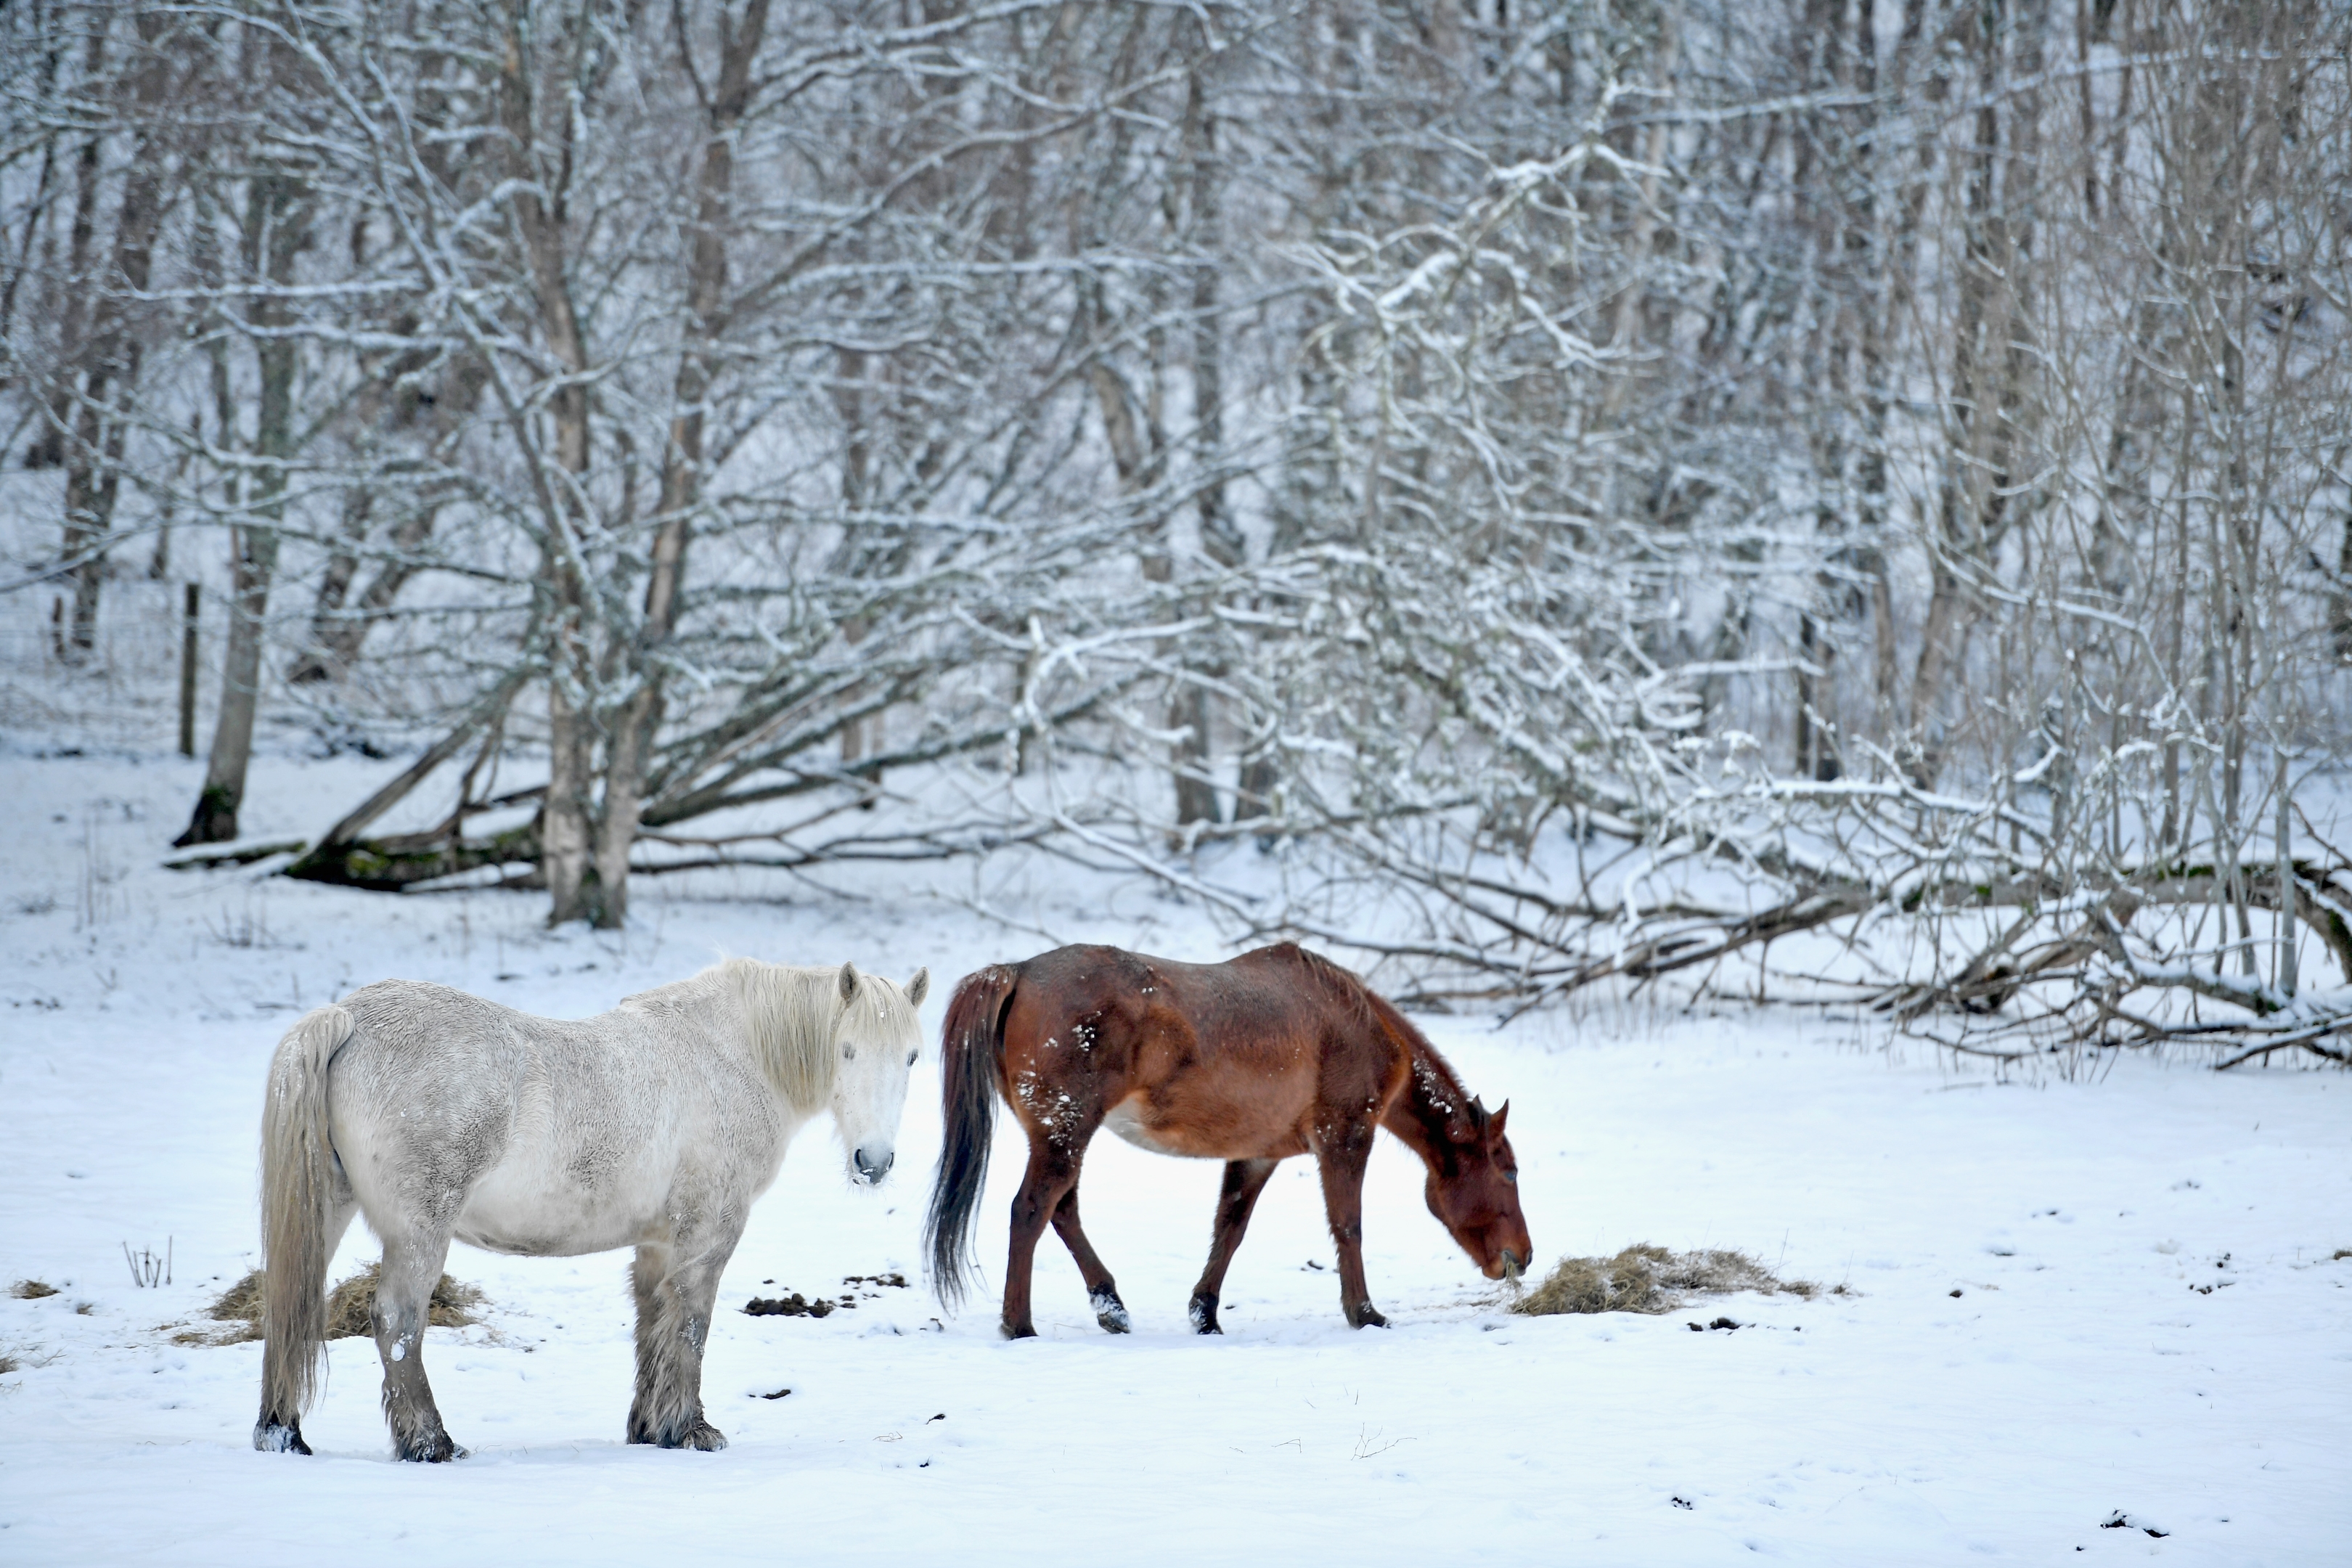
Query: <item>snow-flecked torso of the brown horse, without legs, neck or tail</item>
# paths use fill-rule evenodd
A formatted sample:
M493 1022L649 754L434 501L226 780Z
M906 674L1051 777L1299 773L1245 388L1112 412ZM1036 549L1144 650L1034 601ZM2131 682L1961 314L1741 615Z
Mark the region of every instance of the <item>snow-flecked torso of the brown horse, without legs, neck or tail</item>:
M1018 966L1002 1091L1040 1133L1105 1126L1160 1154L1305 1154L1319 1103L1378 1119L1409 1046L1367 1051L1362 990L1294 945L1228 964L1058 947Z

